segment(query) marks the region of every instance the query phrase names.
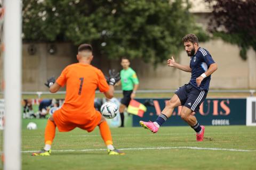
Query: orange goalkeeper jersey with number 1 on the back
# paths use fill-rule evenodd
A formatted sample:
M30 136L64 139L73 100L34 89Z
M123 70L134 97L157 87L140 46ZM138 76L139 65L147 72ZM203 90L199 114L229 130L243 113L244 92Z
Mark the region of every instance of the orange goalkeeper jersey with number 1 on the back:
M95 114L95 90L109 90L103 73L90 64L76 63L68 65L56 81L60 86L66 84L65 103L61 111L65 115L83 114L92 117ZM77 116L80 117L80 116ZM79 122L79 120L77 120Z

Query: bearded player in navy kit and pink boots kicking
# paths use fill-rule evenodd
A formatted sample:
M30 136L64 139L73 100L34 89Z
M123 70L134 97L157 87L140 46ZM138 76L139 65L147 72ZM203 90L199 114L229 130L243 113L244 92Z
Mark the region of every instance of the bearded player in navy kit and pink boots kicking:
M182 120L195 130L196 140L203 141L205 128L197 122L195 112L198 112L199 106L206 98L211 74L218 67L210 53L206 49L199 47L196 35L188 34L182 40L190 57L190 65L178 64L173 57L167 60L167 65L185 72L191 72L191 79L188 84L175 91L174 96L167 101L165 108L155 122L140 121L140 125L156 133L159 126L172 115L174 107L181 105L183 106L180 113Z

